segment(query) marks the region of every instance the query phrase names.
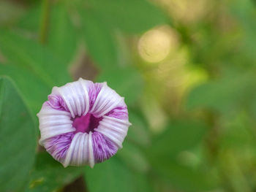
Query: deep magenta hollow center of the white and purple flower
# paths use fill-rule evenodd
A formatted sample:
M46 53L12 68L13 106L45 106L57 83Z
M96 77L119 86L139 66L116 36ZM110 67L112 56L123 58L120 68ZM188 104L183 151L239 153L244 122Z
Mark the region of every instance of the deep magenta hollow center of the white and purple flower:
M101 121L102 118L95 118L94 115L92 115L91 113L87 113L84 116L77 116L75 117L75 119L72 120L72 126L76 129L75 133L89 133L90 131L94 132L94 128L97 128L99 126L99 121Z

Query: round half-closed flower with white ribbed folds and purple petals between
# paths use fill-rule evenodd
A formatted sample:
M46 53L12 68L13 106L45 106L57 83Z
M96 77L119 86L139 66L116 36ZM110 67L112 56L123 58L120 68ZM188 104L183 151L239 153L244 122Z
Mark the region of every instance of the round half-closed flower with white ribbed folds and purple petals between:
M115 155L131 125L124 97L82 78L53 87L37 116L39 144L64 167L93 167Z

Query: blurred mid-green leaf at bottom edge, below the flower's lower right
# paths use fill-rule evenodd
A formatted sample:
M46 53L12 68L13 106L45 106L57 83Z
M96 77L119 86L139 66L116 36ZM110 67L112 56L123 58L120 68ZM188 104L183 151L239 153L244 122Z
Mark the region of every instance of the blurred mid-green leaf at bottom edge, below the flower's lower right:
M95 165L93 169L86 167L85 177L91 192L151 191L145 174L132 172L116 157Z

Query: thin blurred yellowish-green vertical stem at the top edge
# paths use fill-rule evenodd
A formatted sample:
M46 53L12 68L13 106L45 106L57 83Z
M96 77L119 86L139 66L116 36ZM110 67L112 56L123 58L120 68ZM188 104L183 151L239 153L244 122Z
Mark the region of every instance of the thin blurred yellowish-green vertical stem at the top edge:
M42 44L44 44L46 41L46 36L48 32L49 13L50 13L50 1L42 0L42 15L41 15L40 28L39 28L39 42L41 42Z

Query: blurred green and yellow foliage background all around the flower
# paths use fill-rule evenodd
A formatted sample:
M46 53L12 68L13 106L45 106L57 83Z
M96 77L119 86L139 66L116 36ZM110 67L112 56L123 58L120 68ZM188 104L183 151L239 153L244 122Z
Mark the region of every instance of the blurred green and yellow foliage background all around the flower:
M256 1L0 0L0 191L256 191ZM125 97L124 148L63 168L36 117L83 77Z

